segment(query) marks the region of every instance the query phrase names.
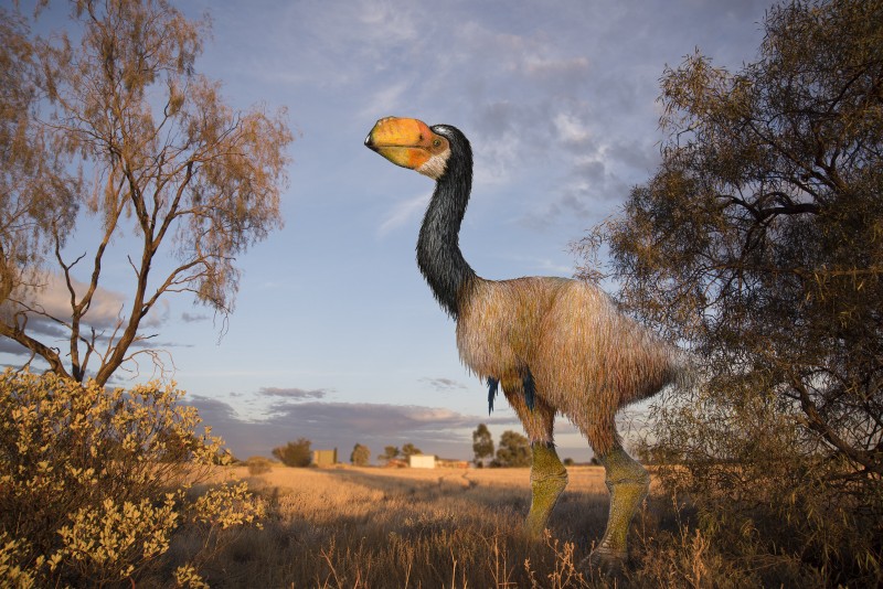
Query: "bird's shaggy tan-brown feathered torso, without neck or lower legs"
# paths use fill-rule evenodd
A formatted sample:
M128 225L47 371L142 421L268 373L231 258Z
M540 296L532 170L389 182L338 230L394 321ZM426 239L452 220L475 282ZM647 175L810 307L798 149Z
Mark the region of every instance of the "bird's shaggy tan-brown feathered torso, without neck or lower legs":
M614 416L677 377L671 350L578 280L474 279L457 321L460 358L503 390L526 374L538 399L567 417L598 453L614 443ZM551 442L551 431L534 441Z

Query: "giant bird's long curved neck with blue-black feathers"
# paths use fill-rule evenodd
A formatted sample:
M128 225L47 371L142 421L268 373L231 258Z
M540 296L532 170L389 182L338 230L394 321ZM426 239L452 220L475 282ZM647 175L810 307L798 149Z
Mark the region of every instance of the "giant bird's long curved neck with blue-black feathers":
M417 265L439 304L454 319L459 314L459 294L476 276L462 257L460 223L472 188L472 152L456 129L444 128L450 143L445 174L438 179L417 240Z

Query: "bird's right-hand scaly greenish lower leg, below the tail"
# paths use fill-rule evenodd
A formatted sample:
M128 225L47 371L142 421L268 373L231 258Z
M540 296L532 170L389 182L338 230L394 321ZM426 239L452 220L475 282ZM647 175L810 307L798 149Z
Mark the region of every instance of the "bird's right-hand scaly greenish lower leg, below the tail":
M598 461L607 475L610 513L604 538L592 553L591 561L604 570L615 571L626 560L628 527L650 490L650 474L618 445L599 456Z

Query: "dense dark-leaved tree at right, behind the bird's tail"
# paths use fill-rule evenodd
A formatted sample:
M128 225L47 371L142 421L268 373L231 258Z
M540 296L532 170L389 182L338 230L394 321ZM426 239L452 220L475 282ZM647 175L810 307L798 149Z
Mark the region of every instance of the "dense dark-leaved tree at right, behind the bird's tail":
M883 2L796 1L765 29L735 74L666 69L659 170L579 247L609 245L620 304L703 376L656 406L653 458L849 583L883 556Z

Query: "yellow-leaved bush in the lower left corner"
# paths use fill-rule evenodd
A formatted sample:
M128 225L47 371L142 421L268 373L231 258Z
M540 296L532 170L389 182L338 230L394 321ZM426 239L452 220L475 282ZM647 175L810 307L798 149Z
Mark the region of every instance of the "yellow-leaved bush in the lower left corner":
M156 576L183 526L255 522L245 484L191 489L228 459L173 386L108 390L53 374L0 375L0 577L18 587ZM198 555L190 555L196 558ZM168 571L167 571L168 574ZM198 585L191 563L177 578ZM167 579L168 581L168 579Z

